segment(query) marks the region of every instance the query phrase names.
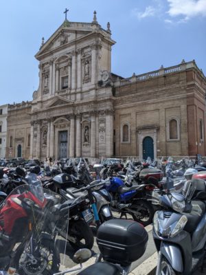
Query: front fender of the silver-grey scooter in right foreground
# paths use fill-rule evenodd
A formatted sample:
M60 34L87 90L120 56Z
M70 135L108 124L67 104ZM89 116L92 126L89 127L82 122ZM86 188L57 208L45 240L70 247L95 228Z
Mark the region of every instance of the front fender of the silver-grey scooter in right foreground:
M176 272L183 272L183 258L177 245L174 245L174 243L161 243L160 251Z

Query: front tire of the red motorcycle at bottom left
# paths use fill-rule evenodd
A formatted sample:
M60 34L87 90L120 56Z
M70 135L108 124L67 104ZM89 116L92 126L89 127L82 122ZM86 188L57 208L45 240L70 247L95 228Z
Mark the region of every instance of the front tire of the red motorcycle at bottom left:
M30 250L30 245L27 246L28 250ZM59 271L60 254L51 239L42 239L38 252L41 252L41 256L38 255L38 259L41 258L41 260L34 265L25 254L25 245L19 245L12 260L12 267L16 268L16 273L19 275L52 275Z

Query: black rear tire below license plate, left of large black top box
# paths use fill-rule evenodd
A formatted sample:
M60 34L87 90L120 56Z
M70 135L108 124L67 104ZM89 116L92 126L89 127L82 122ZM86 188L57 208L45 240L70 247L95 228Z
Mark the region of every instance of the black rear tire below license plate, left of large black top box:
M68 240L73 250L79 250L81 248L91 250L91 248L93 248L93 232L86 221L78 219L78 221L69 223L69 236L76 239L76 242Z

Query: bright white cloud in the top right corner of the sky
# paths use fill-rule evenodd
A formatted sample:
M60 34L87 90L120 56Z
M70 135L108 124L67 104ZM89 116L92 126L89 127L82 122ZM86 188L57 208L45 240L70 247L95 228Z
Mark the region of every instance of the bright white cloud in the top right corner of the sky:
M168 3L170 17L183 16L182 22L192 17L206 16L206 0L168 0Z

